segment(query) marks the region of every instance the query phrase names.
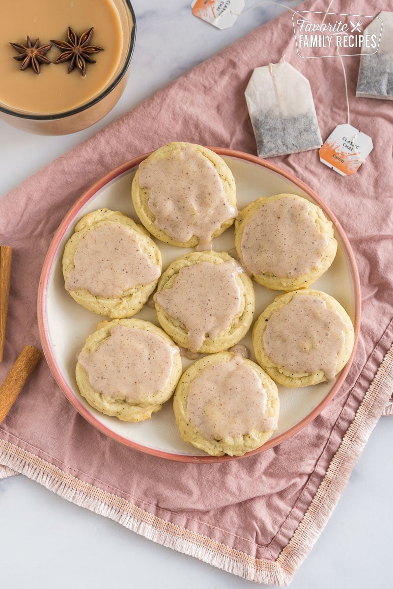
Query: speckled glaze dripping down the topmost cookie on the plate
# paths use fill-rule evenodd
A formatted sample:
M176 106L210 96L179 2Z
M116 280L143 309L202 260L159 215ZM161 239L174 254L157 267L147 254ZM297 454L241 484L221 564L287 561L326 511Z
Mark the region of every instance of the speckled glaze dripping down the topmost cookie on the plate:
M237 217L216 168L192 147L144 160L138 180L150 190L148 207L156 217L154 224L180 243L196 236L201 247L209 249L213 233Z

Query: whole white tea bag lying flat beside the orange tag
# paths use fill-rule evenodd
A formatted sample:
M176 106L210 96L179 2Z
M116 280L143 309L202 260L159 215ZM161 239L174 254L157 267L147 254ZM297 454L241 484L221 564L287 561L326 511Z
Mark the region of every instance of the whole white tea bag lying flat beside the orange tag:
M259 157L321 147L309 81L288 62L256 68L245 96Z

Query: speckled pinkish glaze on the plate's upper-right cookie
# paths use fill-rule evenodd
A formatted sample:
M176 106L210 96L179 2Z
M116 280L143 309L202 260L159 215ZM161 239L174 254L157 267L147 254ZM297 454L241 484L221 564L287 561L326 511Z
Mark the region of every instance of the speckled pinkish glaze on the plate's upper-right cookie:
M308 201L283 197L258 207L246 223L240 249L255 276L296 277L321 263L327 243L309 216Z

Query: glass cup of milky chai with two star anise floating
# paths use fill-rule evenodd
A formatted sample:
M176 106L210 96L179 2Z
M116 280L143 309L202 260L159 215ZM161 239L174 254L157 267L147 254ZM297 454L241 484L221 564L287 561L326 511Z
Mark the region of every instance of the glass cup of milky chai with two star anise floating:
M0 115L36 133L90 126L120 98L134 35L128 0L6 2Z

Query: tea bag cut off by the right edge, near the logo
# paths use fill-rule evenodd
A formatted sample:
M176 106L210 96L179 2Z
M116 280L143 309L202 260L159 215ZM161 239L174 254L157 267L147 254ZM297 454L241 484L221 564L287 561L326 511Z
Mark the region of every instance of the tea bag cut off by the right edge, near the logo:
M382 34L377 53L366 55L367 49L365 45L362 46L356 88L358 98L393 100L393 12L379 12L378 18L375 18L364 32L376 35L378 43L381 21Z

